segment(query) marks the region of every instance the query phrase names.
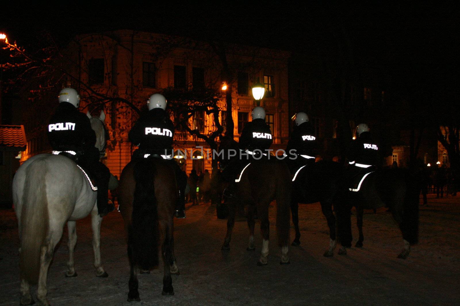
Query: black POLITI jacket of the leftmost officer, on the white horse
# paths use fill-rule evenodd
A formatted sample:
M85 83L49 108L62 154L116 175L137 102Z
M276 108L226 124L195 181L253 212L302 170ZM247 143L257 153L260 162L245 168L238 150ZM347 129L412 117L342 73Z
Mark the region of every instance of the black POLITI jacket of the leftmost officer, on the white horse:
M89 118L69 102L61 102L51 117L46 134L53 150L85 151L96 144Z

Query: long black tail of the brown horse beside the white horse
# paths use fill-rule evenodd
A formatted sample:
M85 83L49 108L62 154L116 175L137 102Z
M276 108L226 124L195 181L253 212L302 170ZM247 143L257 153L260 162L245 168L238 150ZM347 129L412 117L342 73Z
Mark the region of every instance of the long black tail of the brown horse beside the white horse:
M133 263L144 270L158 266L158 211L154 177L156 167L149 160L138 161L134 166L134 200L128 245L132 247Z

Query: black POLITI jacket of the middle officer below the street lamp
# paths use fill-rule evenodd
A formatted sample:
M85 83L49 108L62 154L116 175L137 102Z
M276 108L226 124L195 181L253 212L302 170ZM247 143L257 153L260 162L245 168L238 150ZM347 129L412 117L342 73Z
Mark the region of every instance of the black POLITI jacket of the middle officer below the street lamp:
M241 150L254 151L259 149L265 153L265 150L270 148L272 142L270 126L265 123L264 119L259 118L247 122L238 144Z

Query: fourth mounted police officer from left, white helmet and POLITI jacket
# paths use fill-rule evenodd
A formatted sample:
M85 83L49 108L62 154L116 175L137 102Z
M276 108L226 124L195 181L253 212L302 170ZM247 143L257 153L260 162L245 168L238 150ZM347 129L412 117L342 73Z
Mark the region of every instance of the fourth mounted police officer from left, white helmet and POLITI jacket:
M289 161L291 171L296 171L299 167L315 163L317 141L315 130L305 112L298 112L293 119L295 126L286 151L290 154L291 150L295 150L297 158L295 160L289 159Z

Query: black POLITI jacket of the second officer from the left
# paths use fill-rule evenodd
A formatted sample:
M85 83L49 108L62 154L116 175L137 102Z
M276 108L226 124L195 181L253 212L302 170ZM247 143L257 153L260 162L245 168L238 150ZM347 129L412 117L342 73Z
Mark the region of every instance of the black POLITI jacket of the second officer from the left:
M129 141L140 150L156 151L158 154L172 150L173 137L174 124L161 108L141 115L128 134Z

